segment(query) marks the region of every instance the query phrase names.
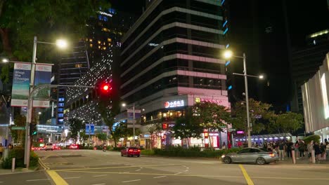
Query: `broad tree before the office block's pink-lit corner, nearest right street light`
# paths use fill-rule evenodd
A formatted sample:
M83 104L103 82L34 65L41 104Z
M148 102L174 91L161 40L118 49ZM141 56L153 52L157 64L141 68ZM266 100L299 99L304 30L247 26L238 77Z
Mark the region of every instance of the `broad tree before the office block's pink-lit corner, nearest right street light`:
M224 107L212 102L200 102L192 109L193 121L208 132L221 130L223 126L231 123L231 114L228 107ZM209 140L211 145L211 141Z

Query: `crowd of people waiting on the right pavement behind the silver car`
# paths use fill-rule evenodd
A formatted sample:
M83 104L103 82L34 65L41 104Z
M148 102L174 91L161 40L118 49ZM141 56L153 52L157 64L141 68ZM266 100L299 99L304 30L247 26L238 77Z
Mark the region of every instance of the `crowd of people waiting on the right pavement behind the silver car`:
M314 156L316 161L326 160L329 155L329 142L325 139L324 143L318 143L311 141L309 144L305 144L304 140L297 139L295 143L292 140L280 140L271 142L261 142L259 144L252 143L252 147L258 147L264 149L265 151L273 151L278 153L280 160L285 160L285 158L292 158L292 151L295 151L295 158L309 158L312 162L311 153L314 151Z

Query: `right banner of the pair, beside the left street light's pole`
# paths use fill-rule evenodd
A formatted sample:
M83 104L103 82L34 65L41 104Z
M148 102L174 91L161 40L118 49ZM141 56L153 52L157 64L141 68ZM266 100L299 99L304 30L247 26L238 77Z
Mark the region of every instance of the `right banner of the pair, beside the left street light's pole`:
M34 74L34 87L39 85L49 85L51 83L51 65L36 64ZM40 89L33 97L33 107L50 107L50 88Z

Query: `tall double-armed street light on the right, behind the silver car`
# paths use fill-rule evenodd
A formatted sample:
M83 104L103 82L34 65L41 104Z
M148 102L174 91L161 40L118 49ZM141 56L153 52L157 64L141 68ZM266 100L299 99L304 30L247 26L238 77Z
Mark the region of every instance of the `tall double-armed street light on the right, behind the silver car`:
M240 76L244 76L245 77L245 104L246 104L246 109L247 109L247 132L248 132L248 147L252 146L251 143L251 136L250 136L250 132L252 131L252 125L250 125L250 112L249 112L249 95L248 95L248 81L247 81L247 76L250 77L256 77L256 78L264 78L264 76L253 76L253 75L247 75L247 64L246 64L246 56L245 53L243 53L243 56L234 56L233 52L231 50L226 50L224 52L224 57L226 59L231 58L231 57L238 57L238 58L243 58L243 74L236 74L236 75L240 75Z

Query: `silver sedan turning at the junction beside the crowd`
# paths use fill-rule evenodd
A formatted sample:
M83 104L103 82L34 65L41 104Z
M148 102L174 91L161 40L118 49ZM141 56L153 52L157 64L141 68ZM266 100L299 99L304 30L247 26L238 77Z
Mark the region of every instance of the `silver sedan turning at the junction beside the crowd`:
M264 165L266 163L278 161L278 155L258 148L245 148L237 153L223 155L221 156L221 160L226 164L257 163L258 165Z

